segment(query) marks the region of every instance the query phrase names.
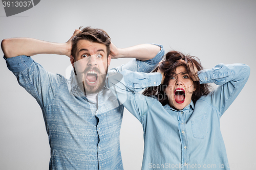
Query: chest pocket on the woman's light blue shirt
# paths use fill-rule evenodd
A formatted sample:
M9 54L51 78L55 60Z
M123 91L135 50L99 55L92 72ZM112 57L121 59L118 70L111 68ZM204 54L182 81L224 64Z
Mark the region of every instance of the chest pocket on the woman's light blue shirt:
M195 138L204 139L209 132L208 116L203 114L197 118L191 119L192 133Z

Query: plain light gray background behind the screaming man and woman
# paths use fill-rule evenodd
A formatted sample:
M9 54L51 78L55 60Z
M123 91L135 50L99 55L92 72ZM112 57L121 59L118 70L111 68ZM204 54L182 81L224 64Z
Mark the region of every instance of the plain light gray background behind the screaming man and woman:
M165 51L197 56L205 68L218 63L251 67L244 89L221 118L231 169L256 168L256 1L60 1L43 0L6 17L0 6L0 39L31 37L66 42L79 26L104 29L117 47L160 43ZM0 56L3 56L2 51ZM46 70L66 75L69 58L37 55ZM111 61L111 68L129 59ZM0 61L0 168L48 169L50 147L39 105ZM143 132L124 112L120 134L124 169L140 169ZM253 168L254 167L254 168Z

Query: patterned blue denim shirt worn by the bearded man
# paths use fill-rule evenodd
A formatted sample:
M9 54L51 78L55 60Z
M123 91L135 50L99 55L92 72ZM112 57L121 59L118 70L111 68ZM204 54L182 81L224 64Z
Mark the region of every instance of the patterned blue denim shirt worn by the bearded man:
M133 59L109 72L150 72L164 55L159 46L161 51L155 58L143 62ZM98 93L97 107L79 95L74 75L67 80L52 74L28 56L6 62L41 107L51 147L49 169L123 169L119 144L123 105L111 90L104 87ZM97 112L96 116L92 112Z

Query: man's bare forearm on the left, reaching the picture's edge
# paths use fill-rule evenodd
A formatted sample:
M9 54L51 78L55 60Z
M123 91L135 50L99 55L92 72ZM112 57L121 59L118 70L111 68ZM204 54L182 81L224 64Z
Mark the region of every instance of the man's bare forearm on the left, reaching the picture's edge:
M33 56L36 54L67 55L69 51L66 43L53 43L33 38L9 38L1 44L6 58L19 55Z

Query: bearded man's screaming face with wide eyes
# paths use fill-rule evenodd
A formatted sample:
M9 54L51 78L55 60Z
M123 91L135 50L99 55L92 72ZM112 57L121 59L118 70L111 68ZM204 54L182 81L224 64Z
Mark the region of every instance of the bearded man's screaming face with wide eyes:
M111 61L106 52L106 46L88 40L77 42L75 60L71 56L71 63L75 68L78 85L85 94L99 92L104 86L106 73Z

